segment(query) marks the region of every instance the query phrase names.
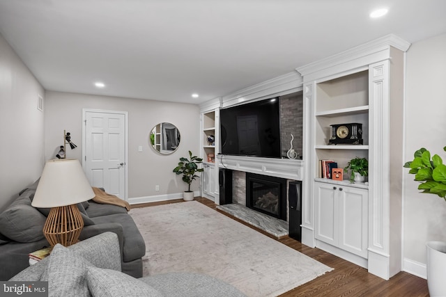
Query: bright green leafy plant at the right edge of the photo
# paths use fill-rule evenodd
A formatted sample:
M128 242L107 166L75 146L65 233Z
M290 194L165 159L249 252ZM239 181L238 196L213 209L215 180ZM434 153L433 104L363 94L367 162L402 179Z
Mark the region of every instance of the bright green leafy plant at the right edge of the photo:
M446 147L443 147L446 152ZM405 168L410 168L409 173L415 175L415 181L421 182L418 189L422 193L436 194L446 200L446 165L443 160L424 147L415 151L413 161L406 162Z

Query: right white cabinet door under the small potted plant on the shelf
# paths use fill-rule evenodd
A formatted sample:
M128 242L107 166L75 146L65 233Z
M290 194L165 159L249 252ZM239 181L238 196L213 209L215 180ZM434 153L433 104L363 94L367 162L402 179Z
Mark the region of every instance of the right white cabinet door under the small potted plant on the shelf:
M338 246L355 255L367 258L369 192L362 188L341 186L338 193Z

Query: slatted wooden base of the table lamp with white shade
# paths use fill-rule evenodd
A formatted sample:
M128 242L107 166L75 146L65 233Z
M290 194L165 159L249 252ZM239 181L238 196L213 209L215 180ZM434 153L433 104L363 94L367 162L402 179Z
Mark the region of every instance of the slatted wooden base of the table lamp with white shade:
M53 207L43 226L43 234L52 247L56 243L71 246L77 243L83 227L84 219L76 204Z

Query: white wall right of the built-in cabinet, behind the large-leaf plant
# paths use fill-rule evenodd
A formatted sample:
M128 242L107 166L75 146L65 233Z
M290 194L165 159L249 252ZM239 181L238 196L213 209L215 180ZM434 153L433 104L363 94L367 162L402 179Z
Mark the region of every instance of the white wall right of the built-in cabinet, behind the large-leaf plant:
M407 52L406 69L406 161L426 147L446 162L446 33L414 43ZM426 241L446 241L446 202L417 190L414 175L403 171L403 257L426 263Z

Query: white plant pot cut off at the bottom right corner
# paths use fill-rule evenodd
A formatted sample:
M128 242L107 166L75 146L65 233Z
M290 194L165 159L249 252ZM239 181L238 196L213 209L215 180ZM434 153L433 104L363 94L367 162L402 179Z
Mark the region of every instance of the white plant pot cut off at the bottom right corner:
M428 241L427 252L427 287L431 296L446 296L446 242Z

